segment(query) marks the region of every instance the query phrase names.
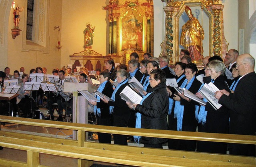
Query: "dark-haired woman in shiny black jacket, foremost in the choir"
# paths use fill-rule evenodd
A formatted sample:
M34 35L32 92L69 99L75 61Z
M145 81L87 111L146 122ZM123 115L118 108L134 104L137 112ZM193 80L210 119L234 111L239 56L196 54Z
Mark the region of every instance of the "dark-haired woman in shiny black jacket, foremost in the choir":
M135 108L137 113L136 128L167 130L166 116L168 114L169 100L165 85L165 73L161 69L155 69L150 73L150 85L152 89L142 99L140 104L127 103L130 108ZM168 139L135 137L144 143L144 147L163 148L162 144ZM137 141L138 141L137 140Z

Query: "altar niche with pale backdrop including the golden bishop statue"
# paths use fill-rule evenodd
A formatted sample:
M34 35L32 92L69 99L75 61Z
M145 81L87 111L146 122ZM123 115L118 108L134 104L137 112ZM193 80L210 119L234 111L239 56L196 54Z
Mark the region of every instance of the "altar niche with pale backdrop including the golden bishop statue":
M179 33L178 50L187 49L194 63L201 62L206 56L212 56L210 42L211 16L209 12L202 10L201 6L190 6L186 4L178 15Z

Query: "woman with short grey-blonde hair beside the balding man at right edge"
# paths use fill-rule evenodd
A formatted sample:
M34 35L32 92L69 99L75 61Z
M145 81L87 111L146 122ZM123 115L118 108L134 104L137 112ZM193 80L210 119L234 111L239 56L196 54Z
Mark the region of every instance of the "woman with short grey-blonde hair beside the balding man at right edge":
M225 83L225 65L219 60L210 61L206 70L208 71L212 83L219 89L225 89L230 92L228 85ZM200 98L203 96L200 93L196 93ZM208 132L208 133L228 133L228 109L225 106L221 106L218 110L215 110L212 105L207 102L206 106L201 106L199 114L197 116L198 122L198 132ZM208 153L222 153L226 154L227 143L221 142L210 142L210 141L198 141L196 151L208 152Z

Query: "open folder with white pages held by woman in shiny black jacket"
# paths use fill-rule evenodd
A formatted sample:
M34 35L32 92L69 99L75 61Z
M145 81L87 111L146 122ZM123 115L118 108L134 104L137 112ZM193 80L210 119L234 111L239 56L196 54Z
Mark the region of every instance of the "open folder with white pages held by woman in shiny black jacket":
M140 104L142 100L142 96L138 94L136 91L134 91L129 86L125 86L125 88L122 90L122 92L119 94L121 98L130 103ZM135 108L133 108L135 110Z

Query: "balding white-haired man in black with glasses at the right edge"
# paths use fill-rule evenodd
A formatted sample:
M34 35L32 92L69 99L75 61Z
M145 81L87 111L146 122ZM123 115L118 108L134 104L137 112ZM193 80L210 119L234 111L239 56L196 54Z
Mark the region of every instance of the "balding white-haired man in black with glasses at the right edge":
M256 132L256 74L255 60L250 54L236 59L240 77L234 93L216 92L218 103L230 110L230 134L255 135ZM255 145L230 143L230 154L255 156Z

